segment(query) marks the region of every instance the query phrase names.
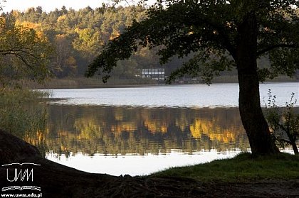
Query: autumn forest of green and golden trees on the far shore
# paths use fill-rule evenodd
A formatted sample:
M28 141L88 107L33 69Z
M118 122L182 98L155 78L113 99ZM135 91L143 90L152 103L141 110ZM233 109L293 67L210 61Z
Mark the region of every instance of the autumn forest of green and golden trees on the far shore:
M120 35L133 20L141 21L146 18L146 10L142 6L134 7L101 7L91 9L86 7L75 11L65 9L46 12L41 6L30 8L25 12L11 11L2 13L5 26L18 26L30 28L36 31L51 45L48 50L48 68L52 77L83 77L88 64L101 52L103 45L112 38ZM119 62L118 67L113 71L113 76L122 79L135 78L140 76L142 68L157 68L159 58L157 50L140 48L130 60ZM2 63L12 59L1 59ZM183 60L174 58L165 67L166 72L171 72ZM10 62L10 65L14 65ZM4 71L1 71L4 72ZM16 77L16 71L10 75ZM2 73L4 75L4 73ZM7 76L7 70L5 70Z

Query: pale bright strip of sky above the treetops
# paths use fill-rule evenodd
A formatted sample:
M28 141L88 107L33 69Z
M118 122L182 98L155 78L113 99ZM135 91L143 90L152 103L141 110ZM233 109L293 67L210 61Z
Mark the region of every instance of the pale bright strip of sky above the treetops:
M41 6L43 11L53 11L54 9L61 9L65 6L67 9L72 8L75 10L83 9L87 6L91 8L100 7L103 0L6 0L3 3L3 11L9 12L11 10L26 11L31 7Z

